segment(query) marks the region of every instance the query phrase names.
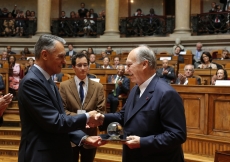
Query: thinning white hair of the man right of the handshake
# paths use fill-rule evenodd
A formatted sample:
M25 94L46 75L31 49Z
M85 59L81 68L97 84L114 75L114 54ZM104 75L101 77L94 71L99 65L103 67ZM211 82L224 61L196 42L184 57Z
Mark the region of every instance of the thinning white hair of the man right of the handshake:
M139 45L137 48L137 62L147 60L151 69L156 69L156 56L147 45Z

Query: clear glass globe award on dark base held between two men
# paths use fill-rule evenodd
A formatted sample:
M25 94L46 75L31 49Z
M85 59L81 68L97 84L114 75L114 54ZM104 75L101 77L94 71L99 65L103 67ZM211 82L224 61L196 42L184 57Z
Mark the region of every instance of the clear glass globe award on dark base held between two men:
M122 126L117 122L112 122L107 127L108 134L101 134L102 140L106 141L127 141L123 139L123 129Z

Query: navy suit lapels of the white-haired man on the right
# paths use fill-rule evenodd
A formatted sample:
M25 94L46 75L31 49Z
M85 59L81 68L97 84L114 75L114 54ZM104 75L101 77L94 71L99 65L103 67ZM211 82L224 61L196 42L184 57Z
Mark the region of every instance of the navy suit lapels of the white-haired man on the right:
M134 107L133 107L133 100L134 100L135 92L138 86L135 86L132 89L132 93L129 95L127 99L128 102L126 103L127 110L125 110L125 123L129 121L129 119L131 119L136 113L138 113L138 111L140 111L143 108L143 106L152 98L158 79L159 77L155 75L154 78L150 81L149 85L146 87L144 93L139 98L136 105L134 105ZM128 113L130 114L128 115Z

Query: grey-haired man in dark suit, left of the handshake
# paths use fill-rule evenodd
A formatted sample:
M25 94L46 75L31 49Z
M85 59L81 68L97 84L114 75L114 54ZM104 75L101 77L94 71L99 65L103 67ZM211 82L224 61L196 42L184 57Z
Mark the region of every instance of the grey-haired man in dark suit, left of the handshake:
M65 40L42 35L35 44L36 63L20 81L19 112L21 143L19 162L72 162L70 141L76 145L99 146L98 136L82 135L86 127L99 125L96 111L75 116L65 114L61 96L51 75L61 72L65 64ZM76 131L78 130L78 131Z

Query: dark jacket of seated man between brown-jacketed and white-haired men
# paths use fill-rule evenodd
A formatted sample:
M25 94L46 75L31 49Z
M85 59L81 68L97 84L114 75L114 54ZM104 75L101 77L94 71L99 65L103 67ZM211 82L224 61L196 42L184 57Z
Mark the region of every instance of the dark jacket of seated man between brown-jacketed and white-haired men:
M116 79L117 75L112 75L111 77L108 77L108 83L112 82L112 78ZM122 76L122 85L117 86L116 88L116 94L119 96L120 94L128 94L130 88L130 80L126 76Z

